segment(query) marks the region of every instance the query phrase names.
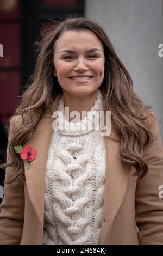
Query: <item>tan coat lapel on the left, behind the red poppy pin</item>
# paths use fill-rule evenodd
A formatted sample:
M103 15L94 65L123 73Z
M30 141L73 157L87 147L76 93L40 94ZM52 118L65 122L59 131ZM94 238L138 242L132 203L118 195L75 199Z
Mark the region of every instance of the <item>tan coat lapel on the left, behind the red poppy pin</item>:
M61 97L59 94L54 101L52 108L55 109L58 106L58 101ZM28 169L28 161L24 161L24 170L26 176L26 184L30 201L36 211L37 216L40 219L43 227L44 217L44 182L46 172L46 162L48 159L49 145L52 139L54 118L51 113L46 113L40 120L32 139L27 144L37 150L37 156L35 160L30 162Z

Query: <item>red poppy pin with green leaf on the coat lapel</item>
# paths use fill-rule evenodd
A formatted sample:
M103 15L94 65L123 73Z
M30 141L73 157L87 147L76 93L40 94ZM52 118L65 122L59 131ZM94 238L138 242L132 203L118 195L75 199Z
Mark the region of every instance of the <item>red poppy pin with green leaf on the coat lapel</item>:
M31 148L29 145L24 147L16 146L14 147L14 149L17 153L20 153L21 159L28 160L28 169L29 169L30 162L33 161L37 156L37 150Z

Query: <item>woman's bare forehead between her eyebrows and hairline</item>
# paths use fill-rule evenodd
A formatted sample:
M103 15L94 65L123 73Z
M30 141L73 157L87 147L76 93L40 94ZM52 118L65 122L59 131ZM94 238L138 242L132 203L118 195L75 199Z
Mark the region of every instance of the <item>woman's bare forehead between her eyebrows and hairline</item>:
M55 42L55 51L58 52L64 48L73 48L73 50L99 48L103 50L103 44L97 35L90 30L65 31Z

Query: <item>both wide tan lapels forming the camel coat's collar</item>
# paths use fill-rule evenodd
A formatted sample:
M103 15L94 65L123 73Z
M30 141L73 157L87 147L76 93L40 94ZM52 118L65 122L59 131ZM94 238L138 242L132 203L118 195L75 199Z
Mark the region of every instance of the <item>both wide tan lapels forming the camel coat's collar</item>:
M55 97L52 105L53 112L57 109L60 98L61 94ZM46 162L48 159L49 145L52 139L53 121L54 118L52 117L52 113L43 115L43 118L40 120L34 132L34 136L28 141L28 144L37 150L37 157L30 163L29 170L28 163L24 160L29 198L40 220L42 230L44 221L44 182ZM101 245L104 245L108 239L109 230L118 209L120 209L130 176L129 168L124 166L120 161L119 141L114 130L111 129L110 136L104 138L106 145L106 175Z

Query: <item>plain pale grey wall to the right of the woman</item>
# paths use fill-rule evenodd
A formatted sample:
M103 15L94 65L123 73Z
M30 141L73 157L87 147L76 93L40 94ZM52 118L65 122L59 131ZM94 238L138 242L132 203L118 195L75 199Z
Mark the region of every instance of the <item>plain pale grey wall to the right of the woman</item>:
M108 33L133 78L134 90L161 120L163 141L162 0L85 0L85 16Z

